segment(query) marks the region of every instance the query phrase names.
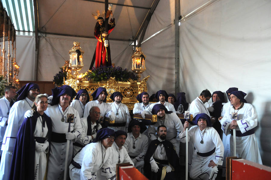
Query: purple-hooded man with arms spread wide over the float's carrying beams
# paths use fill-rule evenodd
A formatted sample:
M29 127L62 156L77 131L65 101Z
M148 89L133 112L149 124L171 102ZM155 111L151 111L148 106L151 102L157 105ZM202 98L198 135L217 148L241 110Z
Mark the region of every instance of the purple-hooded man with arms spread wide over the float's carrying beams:
M167 102L168 95L167 95L166 91L164 91L164 90L157 91L155 94L155 97L157 99L159 99L159 101L157 103L151 104L147 109L145 109L141 112L141 116L143 119L145 119L145 114L151 114L152 108L154 107L155 104L162 104L167 108L168 111L172 111L172 112L176 113L173 104L170 104L169 102Z

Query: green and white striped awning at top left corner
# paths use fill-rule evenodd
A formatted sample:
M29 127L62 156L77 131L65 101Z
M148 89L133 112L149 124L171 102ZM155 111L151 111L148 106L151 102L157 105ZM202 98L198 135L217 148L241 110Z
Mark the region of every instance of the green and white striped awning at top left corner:
M33 0L1 0L1 2L15 30L35 32Z

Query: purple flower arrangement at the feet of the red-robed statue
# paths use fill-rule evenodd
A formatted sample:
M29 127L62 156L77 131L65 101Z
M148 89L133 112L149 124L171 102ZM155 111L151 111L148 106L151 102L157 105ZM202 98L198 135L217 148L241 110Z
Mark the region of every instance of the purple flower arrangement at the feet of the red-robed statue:
M88 70L84 75L83 78L89 80L89 81L105 81L109 79L110 77L115 77L116 81L123 81L126 82L129 79L137 80L136 74L128 71L127 69L122 69L121 67L93 67L92 70Z

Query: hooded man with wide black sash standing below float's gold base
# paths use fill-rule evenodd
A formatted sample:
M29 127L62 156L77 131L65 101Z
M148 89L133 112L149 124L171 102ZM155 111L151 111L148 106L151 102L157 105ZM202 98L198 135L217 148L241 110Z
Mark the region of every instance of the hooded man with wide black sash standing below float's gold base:
M113 102L108 104L111 105L111 109L115 113L115 123L108 124L108 128L113 129L114 131L122 130L126 132L126 127L128 128L131 116L128 107L121 103L123 95L120 92L114 92L110 98Z

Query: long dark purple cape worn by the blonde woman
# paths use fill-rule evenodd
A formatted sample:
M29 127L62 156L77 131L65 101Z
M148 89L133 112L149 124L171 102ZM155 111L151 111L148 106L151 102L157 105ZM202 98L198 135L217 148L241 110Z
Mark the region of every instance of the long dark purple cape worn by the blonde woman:
M34 131L36 127L38 113L32 117L23 120L17 134L15 147L11 161L11 172L9 180L29 180L34 179L35 173L35 138ZM44 113L44 120L48 127L48 141L51 141L52 123L50 117ZM50 151L48 151L48 155Z

